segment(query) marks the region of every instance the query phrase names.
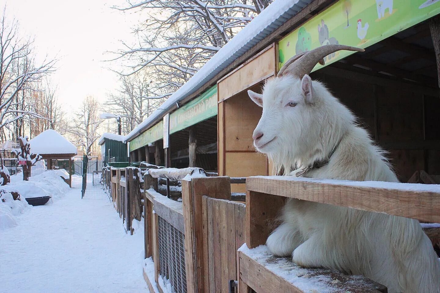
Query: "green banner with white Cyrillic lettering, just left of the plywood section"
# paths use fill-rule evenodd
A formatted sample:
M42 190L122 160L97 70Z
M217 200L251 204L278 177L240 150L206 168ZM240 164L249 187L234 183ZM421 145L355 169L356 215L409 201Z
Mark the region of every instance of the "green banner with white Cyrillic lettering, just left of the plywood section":
M172 112L169 116L169 133L175 133L215 115L217 115L217 85Z

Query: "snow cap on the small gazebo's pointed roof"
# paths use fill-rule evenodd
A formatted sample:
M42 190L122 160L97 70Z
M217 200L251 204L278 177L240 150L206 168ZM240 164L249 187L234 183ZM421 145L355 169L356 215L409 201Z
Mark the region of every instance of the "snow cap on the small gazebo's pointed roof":
M29 143L34 154L77 154L77 147L53 129L43 131Z

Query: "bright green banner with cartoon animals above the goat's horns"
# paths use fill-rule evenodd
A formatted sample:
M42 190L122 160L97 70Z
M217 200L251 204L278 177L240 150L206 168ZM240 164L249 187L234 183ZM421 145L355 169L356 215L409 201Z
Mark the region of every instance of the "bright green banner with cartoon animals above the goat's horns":
M279 65L329 44L367 48L439 13L440 0L339 0L279 41ZM350 54L326 56L326 65ZM317 64L314 70L322 67Z

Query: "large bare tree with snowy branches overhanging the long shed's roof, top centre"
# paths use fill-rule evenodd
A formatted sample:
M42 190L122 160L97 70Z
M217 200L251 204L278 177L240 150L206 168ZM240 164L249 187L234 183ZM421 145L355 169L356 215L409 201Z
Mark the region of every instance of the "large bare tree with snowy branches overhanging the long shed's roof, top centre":
M127 59L129 75L153 67L158 87L177 88L189 80L272 0L128 0L120 10L141 10L139 44L123 44L116 59Z

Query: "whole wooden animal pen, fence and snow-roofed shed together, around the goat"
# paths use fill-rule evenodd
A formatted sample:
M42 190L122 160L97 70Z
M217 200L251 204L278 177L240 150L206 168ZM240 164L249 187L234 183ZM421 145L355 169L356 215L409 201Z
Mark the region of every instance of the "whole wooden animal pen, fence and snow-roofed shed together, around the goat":
M271 256L264 243L286 198L440 222L440 1L293 2L266 8L128 134L131 161L149 163L139 182L122 183L129 168L105 172L127 225L143 207L150 292L386 292L367 278ZM311 77L359 117L400 182L410 183L267 176L271 162L252 139L261 108L247 90L261 93L295 54L337 43L365 52L330 54ZM159 172L152 163L198 168ZM183 179L194 170L207 176ZM138 184L140 197L130 197ZM438 252L439 228L424 230Z

